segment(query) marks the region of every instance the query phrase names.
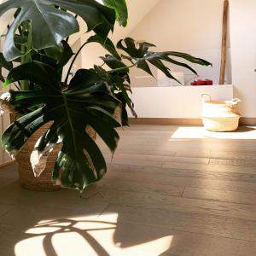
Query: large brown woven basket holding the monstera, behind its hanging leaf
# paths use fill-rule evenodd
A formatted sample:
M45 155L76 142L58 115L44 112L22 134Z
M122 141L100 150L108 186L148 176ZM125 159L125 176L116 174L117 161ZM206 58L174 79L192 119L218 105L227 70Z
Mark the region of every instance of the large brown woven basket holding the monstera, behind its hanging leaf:
M18 119L19 117L19 114L11 114L11 122L15 121L15 119ZM57 158L58 152L62 147L61 143L56 145L53 151L49 154L44 172L42 172L39 177L34 176L30 162L30 155L32 154L35 143L37 143L38 138L41 137L44 132L49 129L50 125L51 123L48 123L39 128L38 131L36 131L32 137L27 140L27 142L21 148L19 154L16 156L20 184L26 189L37 191L54 191L61 189L60 186L54 185L51 182L52 170L55 166L55 160ZM88 127L86 131L90 137L96 139L96 132L92 128Z

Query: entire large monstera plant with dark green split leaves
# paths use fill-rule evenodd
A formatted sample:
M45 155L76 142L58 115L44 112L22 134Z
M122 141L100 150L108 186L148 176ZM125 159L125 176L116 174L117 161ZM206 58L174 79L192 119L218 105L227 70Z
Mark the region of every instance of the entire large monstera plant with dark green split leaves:
M9 90L1 103L23 116L4 131L3 148L17 154L38 128L51 122L35 150L47 154L62 143L52 179L61 181L63 187L83 190L107 172L101 150L85 129L90 125L112 153L117 148L115 128L128 125L126 108L136 115L130 98L131 67L152 75L150 66L154 66L175 79L165 61L193 73L195 70L184 61L210 65L179 52L151 51L154 44L137 44L132 38L120 40L115 47L108 33L116 20L120 26L126 25L125 0L9 0L0 5L0 15L10 9L15 9L15 15L7 24L0 55L0 65L9 74L1 79L4 87L15 84L19 90ZM94 35L74 54L68 38L79 31L78 16ZM87 44L101 44L108 55L101 57L102 66L80 69L70 78L72 65ZM63 74L68 61L70 67ZM13 62L20 65L14 67Z

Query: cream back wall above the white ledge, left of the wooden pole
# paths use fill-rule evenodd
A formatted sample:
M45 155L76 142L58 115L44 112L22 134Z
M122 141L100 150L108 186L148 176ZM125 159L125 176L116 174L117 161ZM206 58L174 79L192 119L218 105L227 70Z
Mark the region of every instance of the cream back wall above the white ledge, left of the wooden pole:
M160 0L131 32L131 37L156 44L158 51L183 51L212 62L212 68L193 67L200 77L213 79L214 84L218 84L223 6L223 0ZM132 84L155 86L154 79L136 79L145 75L143 71L133 70ZM191 79L195 76L186 71L187 84ZM230 61L226 79L227 84L231 83Z

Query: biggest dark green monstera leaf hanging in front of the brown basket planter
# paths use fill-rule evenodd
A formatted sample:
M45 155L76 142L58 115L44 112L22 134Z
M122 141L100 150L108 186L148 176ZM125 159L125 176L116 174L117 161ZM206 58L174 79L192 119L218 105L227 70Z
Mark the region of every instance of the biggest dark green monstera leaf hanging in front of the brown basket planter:
M79 70L65 91L60 90L55 72L52 67L33 61L15 67L9 73L5 85L26 79L40 85L40 90L10 91L9 102L15 109L38 104L42 108L9 126L3 133L3 148L10 153L17 152L34 131L52 121L49 130L38 139L35 150L45 156L56 143L62 143L53 180L63 187L82 190L106 173L102 153L85 129L90 125L113 152L119 135L102 116L113 119L116 125L113 113L120 102L93 70Z

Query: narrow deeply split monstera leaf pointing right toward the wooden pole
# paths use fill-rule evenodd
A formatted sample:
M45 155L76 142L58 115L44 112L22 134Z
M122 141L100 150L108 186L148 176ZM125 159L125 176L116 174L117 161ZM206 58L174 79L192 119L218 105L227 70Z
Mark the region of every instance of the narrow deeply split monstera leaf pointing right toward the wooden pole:
M125 45L124 45L125 44ZM174 60L172 57L178 57L185 61L189 61L191 63L199 64L201 66L209 66L212 65L208 61L204 61L200 58L195 58L192 55L175 52L175 51L166 51L166 52L153 52L148 51L150 47L155 47L154 44L149 44L147 42L138 43L138 47L136 46L136 42L132 38L125 38L124 40L120 40L117 44L118 49L124 50L129 56L124 55L125 59L130 61L135 60L137 62L137 67L143 69L145 72L153 75L148 66L148 62L152 64L154 67L160 69L166 76L170 79L175 79L170 72L170 69L165 66L163 61L170 62L176 66L188 68L193 73L197 74L192 67L189 67L188 64L183 63L181 61ZM171 57L172 56L172 57ZM177 80L177 79L175 79ZM178 81L177 81L178 82Z

